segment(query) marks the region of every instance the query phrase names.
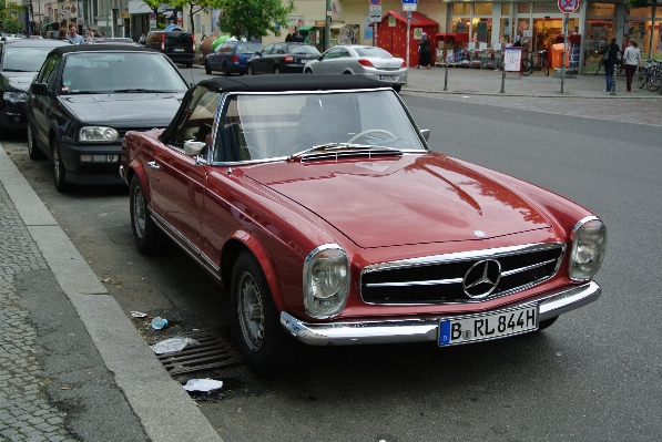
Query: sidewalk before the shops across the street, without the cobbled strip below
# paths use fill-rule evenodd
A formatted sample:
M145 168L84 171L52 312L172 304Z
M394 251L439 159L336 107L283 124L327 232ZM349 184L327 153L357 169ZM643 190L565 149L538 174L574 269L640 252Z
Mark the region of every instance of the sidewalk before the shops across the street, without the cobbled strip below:
M517 72L506 72L503 92L501 83L502 71L476 68L448 68L447 91L444 91L446 68L432 66L428 69L410 68L407 85L403 90L409 92L435 92L444 94L471 95L502 95L502 96L540 96L540 97L591 97L591 99L662 99L658 92L639 89L636 79L632 82L632 92L625 90L625 76L614 76L615 95L604 92L604 74L581 74L563 80L561 93L561 78L554 76L551 70L549 76L541 71L534 71L529 76L520 76Z

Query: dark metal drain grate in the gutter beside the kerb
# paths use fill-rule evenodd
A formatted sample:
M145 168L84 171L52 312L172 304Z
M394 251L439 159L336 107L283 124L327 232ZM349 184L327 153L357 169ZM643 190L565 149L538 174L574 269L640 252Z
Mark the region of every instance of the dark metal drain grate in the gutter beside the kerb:
M230 330L198 330L177 333L192 338L200 346L190 346L174 353L157 354L163 367L171 374L187 373L191 371L208 370L242 363L236 341ZM153 346L172 337L150 338L147 343Z

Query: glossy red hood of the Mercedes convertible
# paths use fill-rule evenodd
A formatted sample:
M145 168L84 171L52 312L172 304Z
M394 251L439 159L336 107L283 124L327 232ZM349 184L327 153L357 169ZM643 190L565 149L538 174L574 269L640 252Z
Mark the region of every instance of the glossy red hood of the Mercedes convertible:
M364 248L477 239L476 230L497 237L550 227L516 191L440 154L274 163L245 174Z

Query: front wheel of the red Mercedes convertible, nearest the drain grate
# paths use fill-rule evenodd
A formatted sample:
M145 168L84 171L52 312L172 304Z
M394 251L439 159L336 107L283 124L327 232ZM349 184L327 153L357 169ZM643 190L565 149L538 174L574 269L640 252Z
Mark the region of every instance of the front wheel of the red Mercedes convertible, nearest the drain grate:
M230 292L233 330L244 360L262 377L283 373L295 361L299 343L281 327L264 273L248 251L234 264Z

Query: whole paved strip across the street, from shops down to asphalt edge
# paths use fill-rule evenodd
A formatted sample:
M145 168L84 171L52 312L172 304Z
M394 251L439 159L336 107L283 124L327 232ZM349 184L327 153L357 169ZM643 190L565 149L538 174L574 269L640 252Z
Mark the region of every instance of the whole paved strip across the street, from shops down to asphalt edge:
M636 85L627 93L622 76L615 78L615 95L601 90L603 75L566 79L566 93L561 94L561 79L540 72L519 78L509 72L505 93L500 93L502 75L499 71L449 69L447 91L444 91L445 71L444 68L411 69L404 91L456 102L662 126L662 95Z

